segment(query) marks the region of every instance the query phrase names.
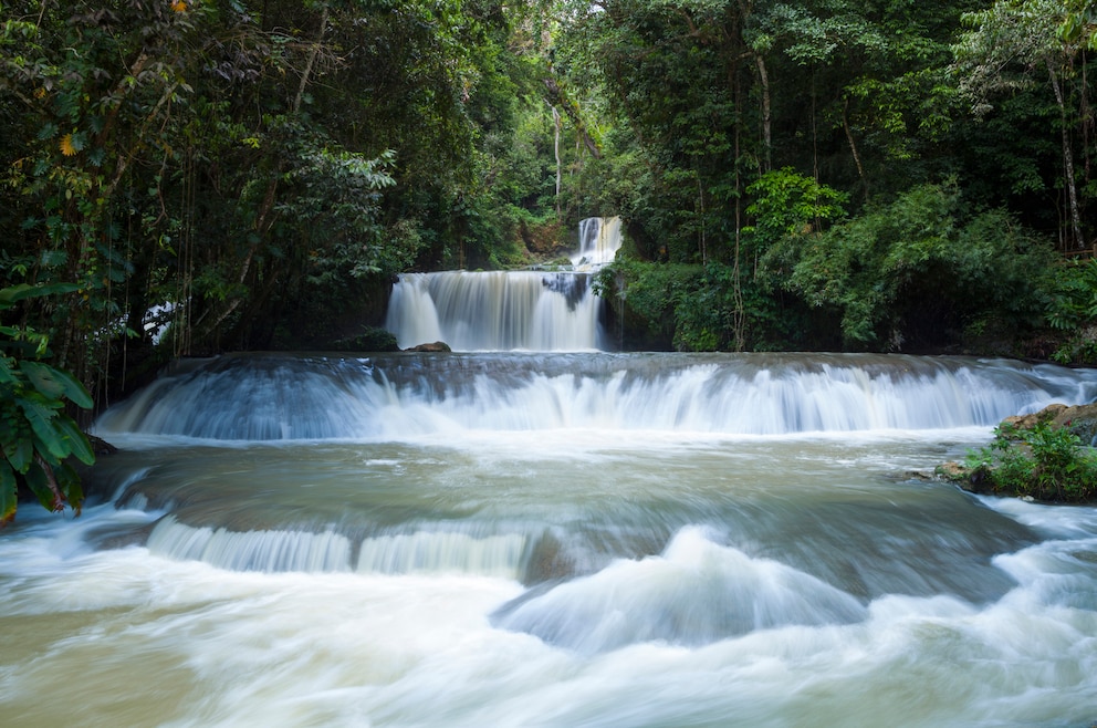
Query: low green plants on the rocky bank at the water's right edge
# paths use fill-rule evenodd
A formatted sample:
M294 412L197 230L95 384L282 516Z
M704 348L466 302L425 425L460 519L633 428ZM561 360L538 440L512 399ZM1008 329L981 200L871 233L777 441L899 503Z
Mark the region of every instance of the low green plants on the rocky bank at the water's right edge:
M1097 498L1097 454L1047 422L1031 429L1000 425L991 444L969 451L964 465L967 478L989 480L995 492L1045 501Z

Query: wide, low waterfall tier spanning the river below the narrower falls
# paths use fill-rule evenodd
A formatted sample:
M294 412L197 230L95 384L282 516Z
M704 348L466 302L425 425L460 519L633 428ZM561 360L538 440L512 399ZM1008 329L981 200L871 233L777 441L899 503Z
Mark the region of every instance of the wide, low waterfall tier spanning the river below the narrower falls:
M868 354L237 355L180 367L100 435L388 439L467 430L780 435L991 426L1097 395L1097 372Z

